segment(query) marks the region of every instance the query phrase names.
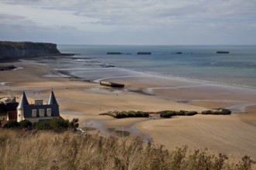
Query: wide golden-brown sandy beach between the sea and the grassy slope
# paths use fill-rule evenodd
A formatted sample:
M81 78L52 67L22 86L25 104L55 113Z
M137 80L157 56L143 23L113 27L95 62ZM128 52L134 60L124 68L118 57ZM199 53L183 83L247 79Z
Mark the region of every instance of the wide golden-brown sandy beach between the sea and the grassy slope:
M56 69L50 59L22 59L5 65L19 70L0 72L0 97L10 93L20 96L25 90L29 103L42 98L47 102L54 89L61 116L79 118L81 127L96 128L108 134L108 128L124 129L131 134L151 138L168 149L188 145L190 149L208 148L231 157L256 158L256 90L226 84L164 78L145 73L115 74L111 69L97 69L104 79L125 83L124 89L102 87L99 80L81 80ZM61 61L58 61L61 63ZM1 65L1 63L0 63ZM63 66L64 67L64 66ZM89 71L93 69L88 68ZM63 71L63 70L62 70ZM92 74L88 75L92 76ZM209 110L225 107L233 114L195 115L160 119L115 119L99 114L113 110Z

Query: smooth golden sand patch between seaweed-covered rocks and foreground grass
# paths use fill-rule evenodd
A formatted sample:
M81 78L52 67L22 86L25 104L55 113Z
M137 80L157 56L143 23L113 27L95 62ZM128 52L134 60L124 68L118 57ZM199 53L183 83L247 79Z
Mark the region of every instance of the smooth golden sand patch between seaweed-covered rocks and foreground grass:
M242 155L256 158L256 128L238 117L175 117L142 122L137 128L169 149L188 145L190 149L209 148L215 154L221 151L232 158Z

